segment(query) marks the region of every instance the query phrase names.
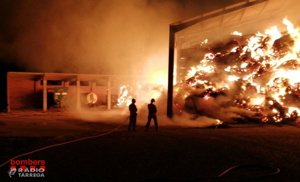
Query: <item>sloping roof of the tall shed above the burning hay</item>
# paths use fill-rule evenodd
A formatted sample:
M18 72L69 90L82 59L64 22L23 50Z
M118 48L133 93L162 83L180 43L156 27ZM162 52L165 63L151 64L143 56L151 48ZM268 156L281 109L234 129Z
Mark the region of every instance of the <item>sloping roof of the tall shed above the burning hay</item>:
M182 20L170 25L178 29L175 34L178 49L191 48L204 41L209 36L215 36L224 30L236 29L242 25L252 25L269 28L270 21L282 20L284 17L298 19L300 0L248 0L222 9ZM255 23L255 24L254 24ZM298 22L297 22L298 23ZM274 26L274 24L273 24ZM245 30L246 33L247 30ZM250 30L249 30L250 31Z

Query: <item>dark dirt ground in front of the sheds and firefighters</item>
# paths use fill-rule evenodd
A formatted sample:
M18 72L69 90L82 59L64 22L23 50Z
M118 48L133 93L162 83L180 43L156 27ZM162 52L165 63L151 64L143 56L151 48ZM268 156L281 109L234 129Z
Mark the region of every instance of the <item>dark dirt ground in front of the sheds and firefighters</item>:
M74 139L99 135L126 118L122 111L78 113L22 111L0 114L0 164L22 153ZM107 112L107 111L105 111ZM33 114L34 115L29 115ZM99 119L101 118L101 119ZM116 119L118 118L118 119ZM138 120L139 122L139 120ZM163 122L163 121L161 121ZM217 176L245 164L271 165L279 174L245 180L218 178L214 181L300 181L300 128L293 125L239 124L228 129L161 126L137 132L125 125L109 135L52 147L16 160L45 160L45 177L8 175L10 164L0 168L0 181L128 181L170 177L185 181ZM226 175L270 173L264 168L231 171ZM194 180L213 181L213 180Z

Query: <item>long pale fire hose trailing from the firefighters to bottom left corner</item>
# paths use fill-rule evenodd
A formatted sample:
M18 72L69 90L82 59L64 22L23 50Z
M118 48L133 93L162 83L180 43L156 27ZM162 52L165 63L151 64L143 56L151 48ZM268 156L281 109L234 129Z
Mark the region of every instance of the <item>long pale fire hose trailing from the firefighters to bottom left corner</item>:
M103 133L101 135L96 135L96 136L90 136L90 137L85 137L85 138L79 138L79 139L76 139L76 140L72 140L72 141L67 141L67 142L64 142L64 143L61 143L61 144L55 144L55 145L50 145L50 146L47 146L47 147L43 147L43 148L40 148L40 149L37 149L37 150L34 150L34 151L31 151L31 152L28 152L28 153L24 153L24 154L21 154L21 155L18 155L18 156L15 156L14 158L4 162L3 164L0 165L0 168L2 166L4 166L5 164L7 164L8 162L10 162L11 160L13 159L17 159L18 157L22 157L22 156L26 156L28 154L31 154L31 153L35 153L35 152L38 152L38 151L41 151L41 150L45 150L45 149L48 149L48 148L51 148L51 147L55 147L55 146L60 146L60 145L64 145L64 144L70 144L70 143L73 143L75 141L81 141L81 140L85 140L85 139L89 139L89 138L96 138L96 137L100 137L100 136L104 136L104 135L107 135L109 133L112 133L113 131L115 131L116 129L120 128L125 122L126 120L128 120L129 116L118 126L116 127L115 129L109 131L109 132L106 132L106 133Z

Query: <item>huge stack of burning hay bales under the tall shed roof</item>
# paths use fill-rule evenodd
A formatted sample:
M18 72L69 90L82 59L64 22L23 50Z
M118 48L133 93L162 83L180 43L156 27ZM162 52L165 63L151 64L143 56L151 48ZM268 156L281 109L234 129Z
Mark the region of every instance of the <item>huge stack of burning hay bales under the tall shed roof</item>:
M300 31L287 19L283 24L283 33L276 26L247 39L235 32L227 43L207 47L204 59L175 86L174 111L225 122L296 121Z

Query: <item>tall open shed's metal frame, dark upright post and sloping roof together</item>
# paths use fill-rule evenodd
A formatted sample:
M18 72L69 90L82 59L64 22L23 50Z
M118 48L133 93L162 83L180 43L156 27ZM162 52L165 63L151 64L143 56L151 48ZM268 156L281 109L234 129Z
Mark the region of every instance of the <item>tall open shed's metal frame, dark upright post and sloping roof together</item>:
M263 31L284 17L299 23L299 0L248 0L170 25L167 116L173 114L173 85L186 71L181 53L195 52L205 39L222 38L232 29L245 34ZM197 59L197 58L195 58Z

